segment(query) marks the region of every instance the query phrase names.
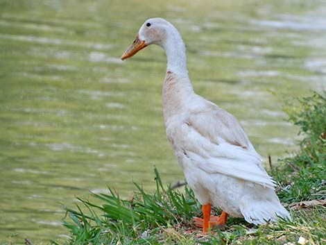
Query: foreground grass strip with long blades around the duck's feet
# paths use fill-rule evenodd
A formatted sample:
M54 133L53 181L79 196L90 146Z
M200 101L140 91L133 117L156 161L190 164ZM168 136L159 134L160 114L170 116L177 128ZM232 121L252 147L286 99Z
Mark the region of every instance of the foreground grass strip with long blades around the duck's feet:
M225 230L214 229L212 235L197 237L199 230L191 218L200 215L200 205L193 192L187 186L184 192L164 188L156 169L155 174L154 194L135 184L139 189L130 200L121 200L114 192L93 194L102 205L80 200L84 207L68 209L64 226L71 238L67 244L284 244L300 236L311 244L322 244L326 231L323 207L292 212L293 221L267 226L252 226L231 217ZM87 212L82 211L85 208Z

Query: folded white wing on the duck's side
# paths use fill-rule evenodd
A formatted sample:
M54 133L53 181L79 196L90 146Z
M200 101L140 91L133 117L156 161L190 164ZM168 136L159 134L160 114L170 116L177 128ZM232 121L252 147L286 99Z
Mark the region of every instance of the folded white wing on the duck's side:
M182 151L198 168L220 173L274 189L261 156L255 151L239 121L230 113L205 100L187 113L182 126Z

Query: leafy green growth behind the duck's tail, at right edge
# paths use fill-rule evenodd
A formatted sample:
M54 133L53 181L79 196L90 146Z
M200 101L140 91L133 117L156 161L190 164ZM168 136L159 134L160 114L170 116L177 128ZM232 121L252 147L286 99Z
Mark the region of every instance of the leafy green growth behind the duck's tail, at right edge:
M289 121L300 126L300 151L273 169L282 201L323 199L326 194L326 98L314 93L286 104Z

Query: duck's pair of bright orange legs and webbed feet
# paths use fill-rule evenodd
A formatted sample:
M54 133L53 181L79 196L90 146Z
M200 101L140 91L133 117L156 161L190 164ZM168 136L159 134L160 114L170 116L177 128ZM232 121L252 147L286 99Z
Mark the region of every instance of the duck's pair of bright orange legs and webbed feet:
M194 224L197 227L203 228L203 233L206 233L209 227L225 225L226 221L228 220L228 213L224 211L220 217L213 215L211 216L211 205L209 203L203 205L202 210L204 219L194 217Z

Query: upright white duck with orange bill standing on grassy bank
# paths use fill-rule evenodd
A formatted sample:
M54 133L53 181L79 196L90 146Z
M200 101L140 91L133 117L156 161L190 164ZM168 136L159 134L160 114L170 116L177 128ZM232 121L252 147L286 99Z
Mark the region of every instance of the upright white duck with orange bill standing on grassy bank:
M225 224L228 214L254 224L274 222L277 216L291 219L239 121L194 92L185 44L171 23L148 19L121 59L151 44L162 47L167 56L162 93L166 135L203 205L204 219L195 218L196 225L205 233L214 224ZM221 217L210 216L211 204L223 210Z

